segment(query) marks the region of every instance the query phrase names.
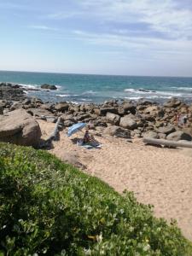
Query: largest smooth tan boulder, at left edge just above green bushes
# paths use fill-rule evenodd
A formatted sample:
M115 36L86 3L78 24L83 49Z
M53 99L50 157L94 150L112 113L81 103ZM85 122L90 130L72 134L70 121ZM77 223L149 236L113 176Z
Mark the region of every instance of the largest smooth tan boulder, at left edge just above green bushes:
M41 137L38 122L24 109L17 109L2 116L0 141L37 147Z

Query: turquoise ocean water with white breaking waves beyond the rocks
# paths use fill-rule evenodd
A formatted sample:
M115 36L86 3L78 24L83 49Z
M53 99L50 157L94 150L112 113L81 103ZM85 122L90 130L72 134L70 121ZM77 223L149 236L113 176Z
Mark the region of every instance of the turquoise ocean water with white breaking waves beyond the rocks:
M192 102L192 78L0 71L0 82L38 89L41 84L55 84L57 90L28 92L29 96L37 96L45 102L100 103L110 99L140 98L165 102L172 97Z

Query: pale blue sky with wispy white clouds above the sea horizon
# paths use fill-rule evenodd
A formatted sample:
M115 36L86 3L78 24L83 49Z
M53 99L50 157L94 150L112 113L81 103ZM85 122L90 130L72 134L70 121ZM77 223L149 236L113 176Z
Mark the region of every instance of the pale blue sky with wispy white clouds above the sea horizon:
M192 77L192 0L0 0L0 70Z

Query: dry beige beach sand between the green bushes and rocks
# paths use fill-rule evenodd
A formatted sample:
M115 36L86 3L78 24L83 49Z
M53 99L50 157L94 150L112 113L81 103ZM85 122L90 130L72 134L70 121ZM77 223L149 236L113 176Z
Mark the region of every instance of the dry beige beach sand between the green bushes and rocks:
M55 126L39 122L44 136ZM82 137L79 132L74 137ZM96 137L101 149L77 146L64 131L50 153L65 159L75 155L86 166L84 172L100 177L114 189L133 191L137 200L154 205L157 217L177 220L183 235L192 240L192 149L145 146L142 140Z

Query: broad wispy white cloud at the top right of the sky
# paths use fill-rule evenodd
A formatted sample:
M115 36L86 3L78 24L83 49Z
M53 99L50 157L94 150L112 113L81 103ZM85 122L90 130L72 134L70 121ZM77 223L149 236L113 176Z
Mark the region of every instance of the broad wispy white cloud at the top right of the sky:
M152 30L172 38L192 33L192 11L176 0L80 0L84 13L105 21L147 23Z

